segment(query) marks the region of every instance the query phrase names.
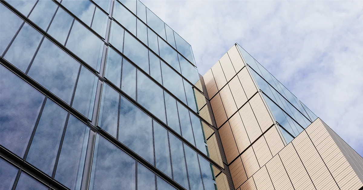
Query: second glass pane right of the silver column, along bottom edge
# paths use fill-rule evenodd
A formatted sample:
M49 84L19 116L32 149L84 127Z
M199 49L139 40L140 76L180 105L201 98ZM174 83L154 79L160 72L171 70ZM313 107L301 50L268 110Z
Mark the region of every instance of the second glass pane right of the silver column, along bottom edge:
M155 174L140 163L137 165L137 189L155 190Z

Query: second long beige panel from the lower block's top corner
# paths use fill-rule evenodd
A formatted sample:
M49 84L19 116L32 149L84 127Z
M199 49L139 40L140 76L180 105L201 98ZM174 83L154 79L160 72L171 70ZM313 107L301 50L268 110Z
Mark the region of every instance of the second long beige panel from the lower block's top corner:
M292 143L315 187L317 189L338 190L337 183L335 183L306 131L302 131Z

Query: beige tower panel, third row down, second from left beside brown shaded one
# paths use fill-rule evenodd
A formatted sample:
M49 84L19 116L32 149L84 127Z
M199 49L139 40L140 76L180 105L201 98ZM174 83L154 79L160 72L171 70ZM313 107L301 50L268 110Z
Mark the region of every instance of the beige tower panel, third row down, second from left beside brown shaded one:
M234 140L236 140L239 153L242 153L251 143L248 139L245 126L242 123L240 114L237 112L229 120L233 132Z

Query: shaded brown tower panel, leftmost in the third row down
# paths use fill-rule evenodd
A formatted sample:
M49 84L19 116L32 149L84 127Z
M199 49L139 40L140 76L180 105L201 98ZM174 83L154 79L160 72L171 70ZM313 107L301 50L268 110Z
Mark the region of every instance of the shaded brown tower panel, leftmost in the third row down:
M218 131L219 136L221 137L224 153L229 164L239 155L229 122L225 123Z

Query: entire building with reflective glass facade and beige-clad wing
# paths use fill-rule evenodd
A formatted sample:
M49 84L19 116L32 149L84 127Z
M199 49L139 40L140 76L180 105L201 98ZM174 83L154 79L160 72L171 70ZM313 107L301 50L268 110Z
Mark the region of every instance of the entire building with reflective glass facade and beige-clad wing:
M0 189L362 189L363 159L238 44L204 76L140 1L0 1Z

